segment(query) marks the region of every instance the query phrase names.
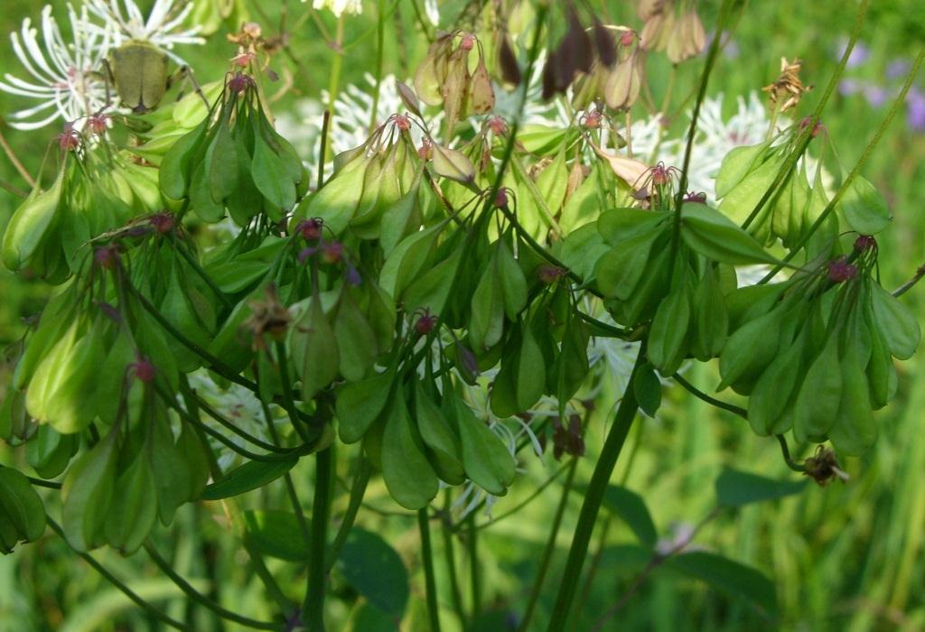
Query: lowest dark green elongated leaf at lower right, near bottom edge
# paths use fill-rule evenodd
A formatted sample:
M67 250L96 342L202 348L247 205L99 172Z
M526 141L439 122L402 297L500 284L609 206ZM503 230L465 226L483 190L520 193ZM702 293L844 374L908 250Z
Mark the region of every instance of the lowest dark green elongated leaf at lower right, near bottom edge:
M669 558L665 567L708 583L727 595L750 602L765 614L777 610L774 582L751 566L741 565L716 553L682 553Z

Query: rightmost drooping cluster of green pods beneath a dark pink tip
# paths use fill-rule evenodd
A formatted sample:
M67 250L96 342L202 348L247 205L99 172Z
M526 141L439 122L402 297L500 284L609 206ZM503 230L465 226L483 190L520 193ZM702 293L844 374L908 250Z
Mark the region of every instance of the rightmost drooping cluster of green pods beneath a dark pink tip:
M873 444L871 412L896 390L893 358L910 358L920 340L915 315L874 276L874 244L858 237L846 258L729 296L721 388L749 395L759 434L831 439L847 455Z

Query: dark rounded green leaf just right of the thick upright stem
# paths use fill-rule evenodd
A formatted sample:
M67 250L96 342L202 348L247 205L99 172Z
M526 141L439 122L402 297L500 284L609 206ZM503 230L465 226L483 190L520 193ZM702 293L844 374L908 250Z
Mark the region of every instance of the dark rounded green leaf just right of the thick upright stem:
M338 568L370 603L401 619L411 590L408 571L388 542L359 527L351 529L340 551Z

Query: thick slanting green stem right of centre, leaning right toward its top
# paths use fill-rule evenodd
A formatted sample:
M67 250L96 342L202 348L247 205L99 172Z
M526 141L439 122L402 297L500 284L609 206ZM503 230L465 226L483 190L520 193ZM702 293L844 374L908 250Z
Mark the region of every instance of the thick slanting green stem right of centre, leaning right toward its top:
M591 482L587 486L585 502L582 504L578 524L574 530L572 548L569 550L568 561L565 563L565 570L562 571L559 580L559 596L556 598L552 618L549 621L550 631L564 630L568 624L569 611L572 607L575 589L578 588L578 583L581 579L581 569L585 564L587 545L591 541L591 533L598 518L600 504L604 500L604 492L607 490L608 482L611 480L613 468L617 464L617 457L620 456L620 451L626 442L626 435L633 425L633 419L635 419L637 404L633 383L635 382L636 371L645 361L645 347L645 344L643 344L639 348L639 355L636 357L633 373L630 375L626 390L623 392L623 401L620 402L620 407L617 408L613 426L598 457L598 464L594 468Z

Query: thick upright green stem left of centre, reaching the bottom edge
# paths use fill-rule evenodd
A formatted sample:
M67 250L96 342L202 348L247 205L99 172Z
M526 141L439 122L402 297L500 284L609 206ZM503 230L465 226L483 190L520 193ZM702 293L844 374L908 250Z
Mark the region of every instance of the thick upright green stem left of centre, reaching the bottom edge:
M315 455L314 503L312 504L312 540L309 544L308 587L302 602L302 622L309 632L325 629L325 589L327 566L327 512L331 492L331 448Z

